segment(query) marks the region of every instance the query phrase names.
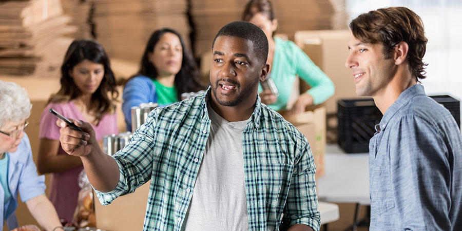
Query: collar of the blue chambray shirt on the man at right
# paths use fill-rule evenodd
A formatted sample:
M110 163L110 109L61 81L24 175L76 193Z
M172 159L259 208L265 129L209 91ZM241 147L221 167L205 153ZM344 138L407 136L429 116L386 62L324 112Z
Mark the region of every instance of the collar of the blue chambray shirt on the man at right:
M398 99L396 99L396 101L387 109L385 114L383 114L379 130L383 131L383 129L387 127L387 124L393 115L395 115L402 106L407 105L416 95L426 95L424 86L421 84L414 84L399 95Z

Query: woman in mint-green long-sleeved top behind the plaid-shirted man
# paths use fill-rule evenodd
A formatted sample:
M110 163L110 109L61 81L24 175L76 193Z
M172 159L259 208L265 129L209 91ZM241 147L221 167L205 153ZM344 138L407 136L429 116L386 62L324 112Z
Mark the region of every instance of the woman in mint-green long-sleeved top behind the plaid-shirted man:
M283 41L273 37L278 27L271 2L267 0L251 0L247 3L243 20L260 27L268 38L269 75L278 88L279 95L271 90L262 91L259 87L261 102L274 110L290 109L290 113L305 111L306 106L323 103L334 94L334 84L322 70L297 45L291 41ZM300 94L292 108L287 108L294 81L300 76L311 86L310 90Z

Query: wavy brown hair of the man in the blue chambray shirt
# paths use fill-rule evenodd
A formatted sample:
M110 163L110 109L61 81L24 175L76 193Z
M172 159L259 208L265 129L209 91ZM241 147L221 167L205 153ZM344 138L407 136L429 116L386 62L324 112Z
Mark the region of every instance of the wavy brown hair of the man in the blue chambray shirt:
M427 37L424 23L412 10L406 7L389 7L363 13L350 23L353 35L363 43L383 45L386 59L391 58L391 51L400 42L409 46L407 59L411 74L425 79L425 67L422 61L427 49Z

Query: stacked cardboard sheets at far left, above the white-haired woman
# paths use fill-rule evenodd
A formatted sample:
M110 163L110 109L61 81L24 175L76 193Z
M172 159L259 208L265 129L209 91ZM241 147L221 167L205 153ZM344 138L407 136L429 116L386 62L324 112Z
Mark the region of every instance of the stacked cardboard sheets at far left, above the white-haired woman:
M0 74L57 78L69 21L60 0L0 2Z

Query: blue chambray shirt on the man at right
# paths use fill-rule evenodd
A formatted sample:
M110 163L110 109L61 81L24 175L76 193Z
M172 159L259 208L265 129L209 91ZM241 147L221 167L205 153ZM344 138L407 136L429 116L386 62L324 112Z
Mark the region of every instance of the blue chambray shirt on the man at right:
M462 230L462 138L424 87L403 91L369 144L370 230Z

